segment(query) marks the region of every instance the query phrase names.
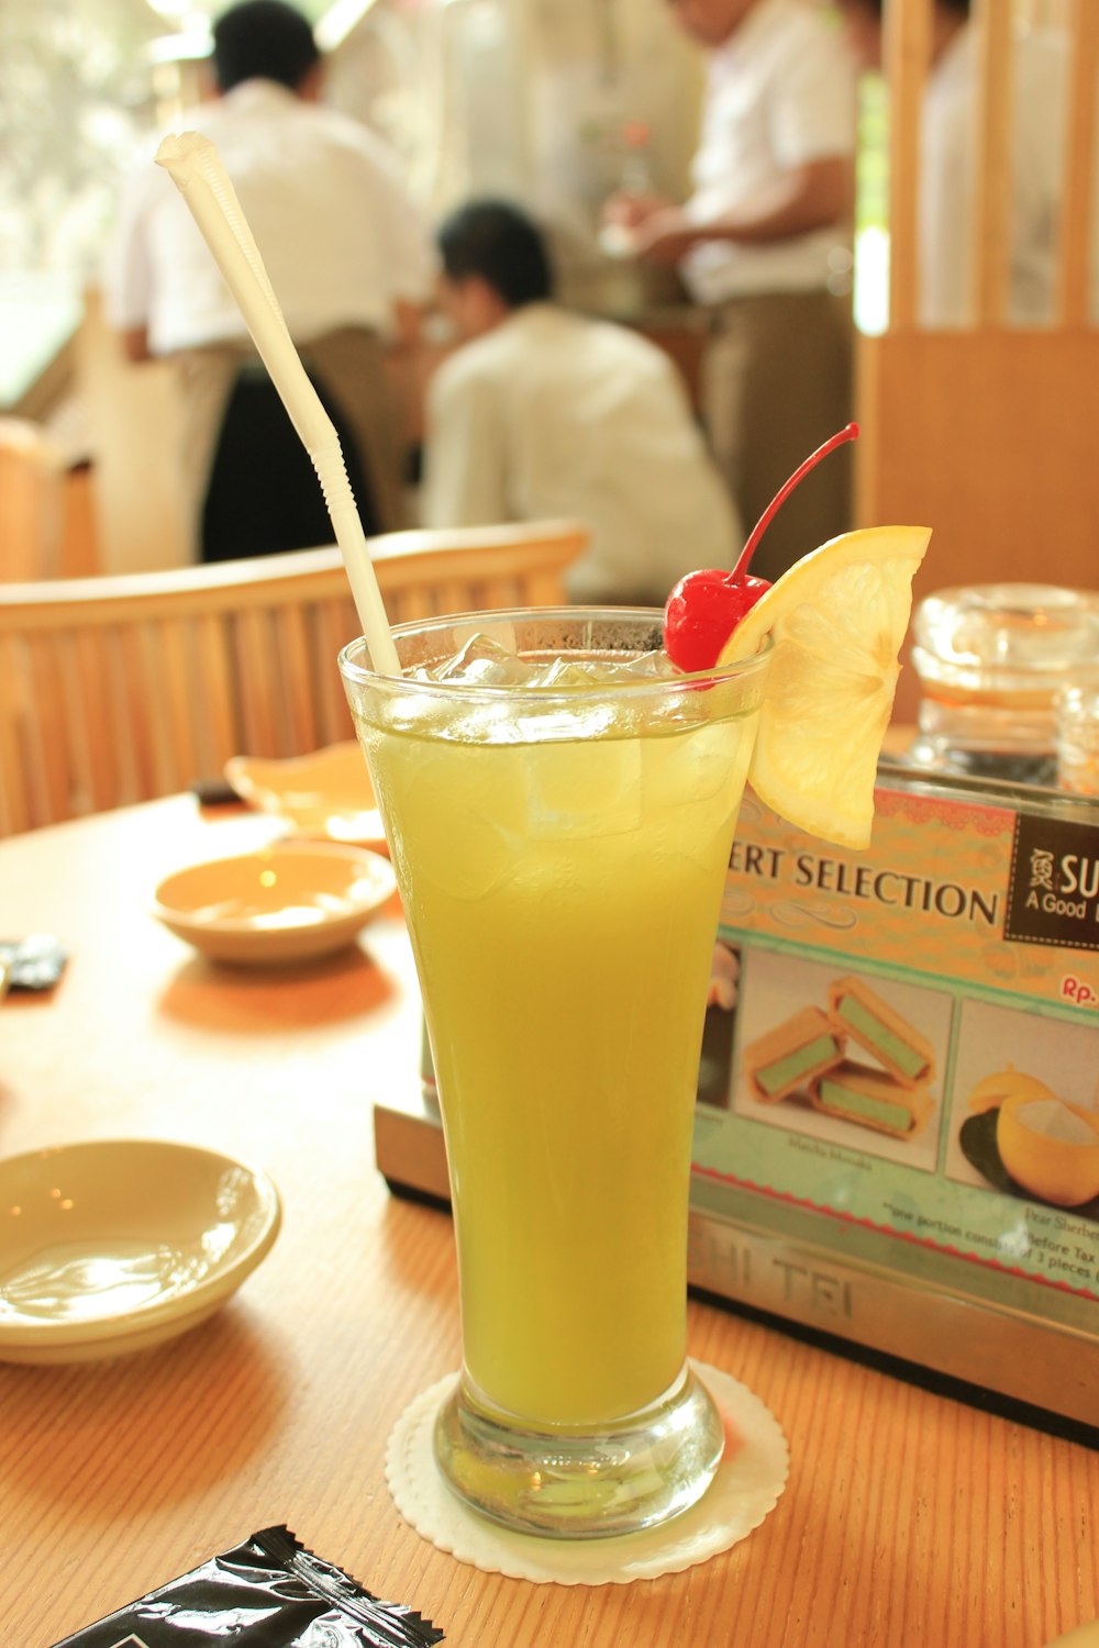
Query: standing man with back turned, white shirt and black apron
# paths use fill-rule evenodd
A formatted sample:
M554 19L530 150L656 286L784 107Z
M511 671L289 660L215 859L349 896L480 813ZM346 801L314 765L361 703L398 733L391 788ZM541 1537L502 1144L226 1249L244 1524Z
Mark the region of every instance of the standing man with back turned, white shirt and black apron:
M189 124L217 147L287 326L341 438L367 531L404 524L399 410L382 339L412 323L433 252L395 163L320 104L308 21L242 0L214 23L217 97ZM241 311L171 178L152 163L124 199L107 315L133 361L170 356L185 412L185 488L204 560L330 542L320 485Z

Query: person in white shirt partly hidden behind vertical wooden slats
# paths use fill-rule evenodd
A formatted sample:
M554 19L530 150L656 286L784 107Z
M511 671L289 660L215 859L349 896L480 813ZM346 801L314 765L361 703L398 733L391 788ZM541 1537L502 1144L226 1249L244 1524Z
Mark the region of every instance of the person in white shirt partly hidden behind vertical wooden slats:
M882 0L839 0L862 68L882 68ZM934 0L931 73L919 132L919 318L974 321L977 59L969 0ZM1008 320L1053 318L1058 199L1068 114L1068 41L1020 28L1012 51L1012 216Z

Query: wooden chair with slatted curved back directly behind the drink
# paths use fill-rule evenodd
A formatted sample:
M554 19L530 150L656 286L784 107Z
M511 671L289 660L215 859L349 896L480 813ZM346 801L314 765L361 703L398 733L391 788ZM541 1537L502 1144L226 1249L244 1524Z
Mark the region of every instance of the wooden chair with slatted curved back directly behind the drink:
M550 521L390 532L371 554L400 623L564 602L587 542ZM358 633L334 547L0 585L0 836L353 737L336 654Z

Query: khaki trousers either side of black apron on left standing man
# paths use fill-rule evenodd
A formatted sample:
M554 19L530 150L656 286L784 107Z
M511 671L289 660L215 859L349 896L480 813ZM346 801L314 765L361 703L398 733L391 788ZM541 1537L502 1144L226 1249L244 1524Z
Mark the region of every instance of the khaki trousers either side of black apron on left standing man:
M402 415L381 339L364 328L343 326L303 344L300 354L353 430L381 531L407 526ZM194 559L199 559L203 501L226 405L241 366L255 354L244 344L224 343L185 349L173 359L183 410L183 498Z

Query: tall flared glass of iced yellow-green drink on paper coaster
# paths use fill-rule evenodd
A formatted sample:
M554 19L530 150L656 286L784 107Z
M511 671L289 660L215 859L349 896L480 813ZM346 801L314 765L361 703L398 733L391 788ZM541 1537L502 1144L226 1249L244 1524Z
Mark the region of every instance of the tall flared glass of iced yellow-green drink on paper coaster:
M471 636L479 636L466 648ZM661 613L404 625L339 658L397 870L450 1165L451 1488L512 1528L652 1526L722 1452L685 1360L694 1094L768 658L677 676ZM540 684L496 648L542 667ZM442 679L415 679L453 659ZM410 679L409 672L415 672Z

